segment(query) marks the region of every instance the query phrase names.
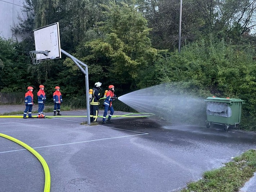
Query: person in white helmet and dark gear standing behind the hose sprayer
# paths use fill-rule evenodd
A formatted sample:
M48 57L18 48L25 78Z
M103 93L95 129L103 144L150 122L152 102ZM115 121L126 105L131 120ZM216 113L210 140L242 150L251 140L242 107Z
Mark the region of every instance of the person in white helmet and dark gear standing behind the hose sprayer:
M93 87L92 93L92 101L90 102L90 121L97 122L98 114L99 114L99 105L100 105L100 90L101 89L101 82L96 82Z

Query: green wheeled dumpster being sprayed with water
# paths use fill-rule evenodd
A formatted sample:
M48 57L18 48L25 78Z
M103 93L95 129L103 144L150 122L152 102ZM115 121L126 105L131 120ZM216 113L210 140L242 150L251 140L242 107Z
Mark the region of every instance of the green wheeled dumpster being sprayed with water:
M228 131L230 125L236 127L240 123L244 103L242 99L208 97L205 102L207 128L214 123L224 125L224 130Z

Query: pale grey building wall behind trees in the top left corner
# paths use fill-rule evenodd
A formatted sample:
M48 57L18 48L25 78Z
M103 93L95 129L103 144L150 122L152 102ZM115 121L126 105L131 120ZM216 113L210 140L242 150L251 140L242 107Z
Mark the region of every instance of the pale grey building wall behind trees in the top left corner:
M18 15L22 15L23 0L0 0L0 36L5 39L22 40L22 36L14 34L12 28L19 23Z

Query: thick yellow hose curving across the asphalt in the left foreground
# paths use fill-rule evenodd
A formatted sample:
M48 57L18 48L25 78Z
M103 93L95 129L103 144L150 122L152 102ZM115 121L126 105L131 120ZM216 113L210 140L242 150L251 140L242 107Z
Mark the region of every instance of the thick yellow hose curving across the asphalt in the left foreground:
M33 155L36 156L36 158L41 162L41 164L43 165L44 168L44 175L45 175L45 182L44 182L44 192L49 192L50 191L50 170L48 168L48 165L46 163L46 161L44 160L44 158L35 151L35 149L33 149L32 147L28 146L26 143L23 143L22 141L15 139L13 137L10 137L8 135L5 135L3 133L0 133L1 137L4 137L6 139L9 139L13 142L18 143L19 145L21 145L22 147L26 148L28 151L30 151Z

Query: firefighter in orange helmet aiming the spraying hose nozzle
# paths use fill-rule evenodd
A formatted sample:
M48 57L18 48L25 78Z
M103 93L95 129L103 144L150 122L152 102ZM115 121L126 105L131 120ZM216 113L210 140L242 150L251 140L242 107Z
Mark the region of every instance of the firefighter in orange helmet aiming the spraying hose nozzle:
M102 119L103 124L106 124L106 116L108 111L110 111L110 114L107 119L107 122L111 123L110 119L114 114L114 108L113 108L112 102L115 100L115 98L116 98L116 95L114 94L114 85L109 85L109 91L107 91L107 97L103 103L104 105L104 113L103 113L103 119Z

